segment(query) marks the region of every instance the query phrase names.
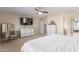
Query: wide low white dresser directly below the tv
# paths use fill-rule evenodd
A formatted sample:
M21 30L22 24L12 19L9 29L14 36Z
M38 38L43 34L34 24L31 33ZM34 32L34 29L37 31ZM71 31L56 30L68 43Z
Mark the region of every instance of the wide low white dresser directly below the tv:
M21 37L34 35L34 28L33 27L22 27L20 28L20 34L21 34Z

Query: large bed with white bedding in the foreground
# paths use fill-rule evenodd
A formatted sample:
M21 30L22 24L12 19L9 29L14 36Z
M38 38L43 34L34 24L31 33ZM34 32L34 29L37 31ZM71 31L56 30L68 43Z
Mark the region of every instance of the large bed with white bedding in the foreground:
M28 41L21 52L78 52L79 37L52 34Z

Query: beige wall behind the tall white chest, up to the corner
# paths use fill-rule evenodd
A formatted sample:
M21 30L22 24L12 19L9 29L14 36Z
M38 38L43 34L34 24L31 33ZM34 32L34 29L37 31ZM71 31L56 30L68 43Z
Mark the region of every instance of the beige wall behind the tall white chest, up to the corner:
M47 17L47 24L50 24L50 22L54 20L57 24L57 33L58 34L64 34L64 29L63 29L63 14L56 14L56 15L51 15Z

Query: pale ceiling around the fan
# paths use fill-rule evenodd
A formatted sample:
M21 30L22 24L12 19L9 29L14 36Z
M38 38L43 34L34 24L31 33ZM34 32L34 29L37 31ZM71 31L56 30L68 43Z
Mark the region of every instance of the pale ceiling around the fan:
M36 11L34 10L36 7L0 7L0 11L15 13L18 15L24 16L39 16L36 15ZM42 14L40 16L46 16L51 14L58 14L69 11L77 11L79 12L78 7L42 7L42 10L48 11L48 14Z

